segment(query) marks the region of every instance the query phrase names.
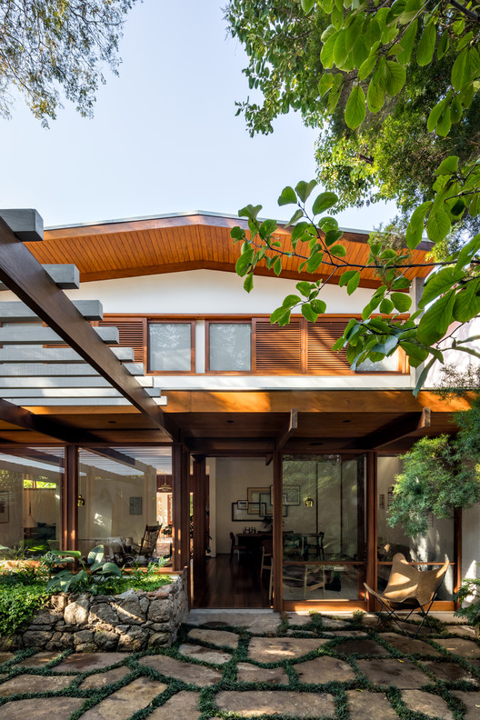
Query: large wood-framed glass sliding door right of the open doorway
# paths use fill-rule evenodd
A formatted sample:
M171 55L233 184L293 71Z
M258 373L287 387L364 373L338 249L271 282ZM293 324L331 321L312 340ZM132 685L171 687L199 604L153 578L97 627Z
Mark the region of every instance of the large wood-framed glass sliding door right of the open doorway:
M283 597L363 599L365 455L285 455Z

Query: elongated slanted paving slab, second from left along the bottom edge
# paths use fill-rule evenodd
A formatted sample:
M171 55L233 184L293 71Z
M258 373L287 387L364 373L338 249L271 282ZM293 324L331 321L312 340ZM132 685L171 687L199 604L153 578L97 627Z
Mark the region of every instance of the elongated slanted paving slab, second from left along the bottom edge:
M125 685L87 710L82 720L128 720L138 710L150 705L154 697L163 693L167 687L165 683L150 677L138 677L130 685Z

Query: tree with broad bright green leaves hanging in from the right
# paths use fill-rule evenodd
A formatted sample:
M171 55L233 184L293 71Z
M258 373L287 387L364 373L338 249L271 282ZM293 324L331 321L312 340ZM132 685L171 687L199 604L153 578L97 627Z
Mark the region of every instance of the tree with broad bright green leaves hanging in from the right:
M240 0L232 2L228 8L231 11L237 5L241 5ZM264 85L260 85L258 76L251 84L260 87L264 95L266 91L268 94L265 95L263 115L261 111L255 115L256 109L254 112L252 106L239 108L245 110L251 123L261 121L267 127L268 117L290 106L295 107L295 104L308 122L321 123L334 116L336 108L341 107L343 122L354 138L353 142L358 144L361 143L362 128L368 128L369 124L374 126L375 115L383 116L384 123L394 122L395 112L402 108L400 94L404 93L404 105L405 97L415 95L413 78L418 75L418 68L425 68L426 76L435 71L435 64L443 63L448 70L446 80L442 77L434 84L430 105L424 108L423 115L415 115L410 108L415 105L411 99L406 103L405 116L413 124L412 128L418 128L418 135L424 142L426 139L430 143L433 148L431 158L435 158L435 145L445 138L449 143L451 141L448 147L458 147L460 153L461 137L469 137L471 108L478 102L480 87L477 50L480 17L471 5L463 6L456 0L440 3L385 0L378 5L371 0L352 0L346 8L341 0L301 0L300 4L294 0L274 4L258 0L252 5L255 9L250 9L249 15L245 13L245 16L248 15L251 22L252 12L260 12L263 8L261 17L265 33L262 35L256 27L253 35L246 30L241 31L244 35L237 31L237 35L245 42L251 58L251 81L252 63L258 58L255 73L261 75ZM279 20L272 6L275 13L281 11ZM301 13L305 17L297 21ZM320 29L321 68L315 75L315 67L308 61L313 56L315 65L312 48ZM309 38L311 45L305 38ZM297 51L295 47L283 58L281 48L295 42L301 50ZM304 57L304 72L301 57ZM319 95L321 99L318 99ZM266 102L269 98L273 105ZM326 107L325 98L328 98ZM400 120L397 118L395 122L400 122L402 116L400 114ZM423 125L424 118L426 126ZM458 127L461 130L457 133ZM413 176L415 154L406 152L405 157ZM405 270L411 266L410 251L421 242L424 230L435 245L444 245L455 224L465 218L475 218L480 211L480 164L475 145L461 155L445 156L444 153L442 158L438 165L428 165L433 182L425 186L425 199L416 205L409 219L406 247L394 247L388 238L385 241L378 236L371 243L368 265L375 267L382 285L365 305L362 319L352 319L343 337L334 345L334 349L347 348L347 357L354 368L367 358L375 362L402 347L411 365L418 366L426 361L416 391L435 360L444 362L445 340L442 346L440 343L449 325L454 320L464 324L480 312L480 235L475 235L467 238L462 247L448 254L443 261L432 264L436 272L425 284L420 310L406 321L399 317L410 309L411 300L405 295L410 281L405 278ZM295 189L285 187L278 199L279 205L296 206L288 224L295 224L290 250L285 250L275 237L275 221L257 221L260 205L247 205L240 211L239 215L248 220L249 233L235 227L232 236L235 242L243 244L236 270L245 276L247 291L253 287L258 263L265 263L279 275L282 255L286 253L302 258L300 268L305 268L310 275L315 275L320 263L326 262L332 267L332 275L342 273L340 285L346 285L349 294L355 292L362 267L346 256L345 245L340 242L342 232L335 218L321 216L338 204L338 196L327 190L315 197L310 209L306 204L314 188L315 181L300 182ZM417 197L417 203L422 199L422 196ZM315 322L318 315L325 313L325 302L321 298L324 285L322 281L298 283L298 295L285 298L283 305L272 315L272 322L285 325L297 307L307 320ZM420 317L423 310L425 313ZM378 312L385 316L374 317ZM480 357L480 353L467 345L475 339L460 341L452 335L447 340L447 347Z

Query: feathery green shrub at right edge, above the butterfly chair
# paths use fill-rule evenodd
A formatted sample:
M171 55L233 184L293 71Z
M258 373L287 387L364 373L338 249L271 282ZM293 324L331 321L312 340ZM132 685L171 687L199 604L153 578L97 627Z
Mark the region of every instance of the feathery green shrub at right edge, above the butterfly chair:
M469 416L470 412L457 414L456 420ZM475 427L475 420L478 415L472 422L466 420L467 427L457 438L422 437L401 455L404 472L395 477L389 525L402 525L406 535L425 534L429 513L451 517L455 507L471 507L480 500L480 425ZM474 446L476 455L472 455Z

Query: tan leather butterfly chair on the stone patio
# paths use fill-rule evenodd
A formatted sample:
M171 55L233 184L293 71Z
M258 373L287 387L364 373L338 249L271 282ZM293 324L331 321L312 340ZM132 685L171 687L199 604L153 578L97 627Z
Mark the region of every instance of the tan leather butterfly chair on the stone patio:
M428 620L428 613L435 602L440 585L444 581L448 565L448 560L445 560L444 565L440 568L418 570L415 565L409 565L406 562L405 555L402 555L402 553L394 555L392 572L383 593L375 593L375 590L372 590L371 587L364 583L367 593L378 600L382 610L385 610L387 614L382 617L382 610L380 610L377 627L391 618L402 633L407 635L398 621L408 620L415 610L419 610L423 615L423 619L414 637L418 635L425 621L432 628ZM408 614L401 618L397 615L401 611L406 611Z

